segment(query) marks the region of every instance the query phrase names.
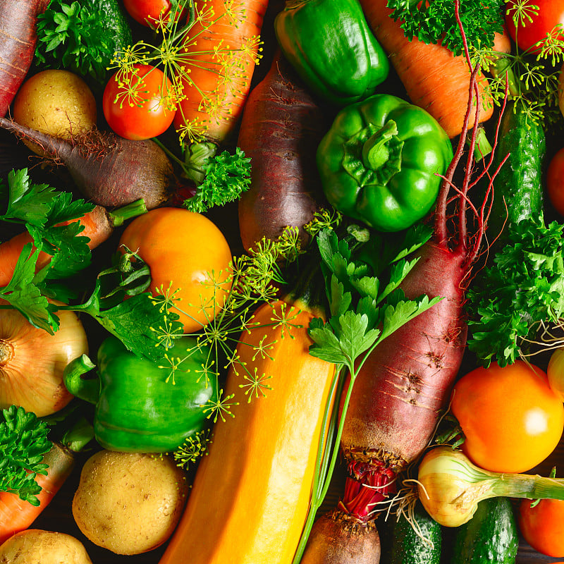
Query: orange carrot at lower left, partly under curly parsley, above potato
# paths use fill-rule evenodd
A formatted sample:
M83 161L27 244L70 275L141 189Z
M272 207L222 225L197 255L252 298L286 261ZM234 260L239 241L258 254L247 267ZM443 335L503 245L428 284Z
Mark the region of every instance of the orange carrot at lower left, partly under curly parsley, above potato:
M47 476L37 474L35 481L42 490L37 494L39 505L35 507L28 501L23 501L16 494L0 492L0 544L12 535L27 529L39 516L51 499L59 491L69 474L73 470L74 457L70 450L59 444L44 455L43 462L49 465Z

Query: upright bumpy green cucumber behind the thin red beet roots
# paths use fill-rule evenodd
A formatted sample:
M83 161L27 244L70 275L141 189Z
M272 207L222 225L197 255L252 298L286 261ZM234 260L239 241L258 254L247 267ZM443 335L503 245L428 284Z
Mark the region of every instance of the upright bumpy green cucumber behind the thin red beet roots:
M543 208L542 169L546 138L542 125L527 119L522 104L508 104L501 118L498 146L494 157L495 171L509 154L494 179L494 203L488 221L489 238L503 228L496 247L505 245L511 224L527 217L539 217ZM507 206L507 209L505 209Z

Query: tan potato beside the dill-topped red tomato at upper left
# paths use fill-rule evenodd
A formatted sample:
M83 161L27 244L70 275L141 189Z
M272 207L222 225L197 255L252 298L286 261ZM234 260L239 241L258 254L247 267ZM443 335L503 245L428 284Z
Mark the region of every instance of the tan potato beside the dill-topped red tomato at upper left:
M28 128L71 138L96 126L96 99L86 82L68 71L42 71L26 80L13 102L13 118ZM37 145L25 144L37 154Z

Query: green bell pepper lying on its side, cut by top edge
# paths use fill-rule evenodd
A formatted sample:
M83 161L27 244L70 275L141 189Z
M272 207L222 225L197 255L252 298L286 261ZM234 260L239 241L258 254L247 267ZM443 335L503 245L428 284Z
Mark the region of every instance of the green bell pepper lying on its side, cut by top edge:
M374 94L388 76L388 58L358 0L286 0L274 31L307 86L333 104Z

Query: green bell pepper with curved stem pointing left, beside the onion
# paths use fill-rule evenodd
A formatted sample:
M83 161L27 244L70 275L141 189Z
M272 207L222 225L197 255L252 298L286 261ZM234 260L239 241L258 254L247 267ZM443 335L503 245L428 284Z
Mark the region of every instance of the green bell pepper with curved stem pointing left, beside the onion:
M111 336L100 345L97 378L82 378L94 364L82 355L65 369L74 396L96 405L94 436L101 446L123 452L165 453L204 428L204 405L215 397L214 379L202 375L207 349L192 337L174 341L168 357L185 359L174 383L170 369L130 353ZM187 357L187 350L190 356ZM168 379L168 381L167 381Z

